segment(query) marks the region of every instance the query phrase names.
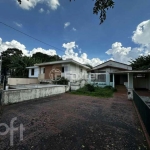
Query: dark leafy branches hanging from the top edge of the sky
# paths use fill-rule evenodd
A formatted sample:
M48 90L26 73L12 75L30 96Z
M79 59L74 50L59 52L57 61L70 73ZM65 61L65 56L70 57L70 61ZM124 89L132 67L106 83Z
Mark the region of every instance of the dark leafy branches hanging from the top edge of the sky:
M20 4L21 4L21 1L22 0L18 0ZM100 13L99 19L100 19L100 24L101 24L106 20L106 11L109 8L114 8L115 2L114 0L94 0L94 1L95 1L95 4L93 7L93 14L98 15Z

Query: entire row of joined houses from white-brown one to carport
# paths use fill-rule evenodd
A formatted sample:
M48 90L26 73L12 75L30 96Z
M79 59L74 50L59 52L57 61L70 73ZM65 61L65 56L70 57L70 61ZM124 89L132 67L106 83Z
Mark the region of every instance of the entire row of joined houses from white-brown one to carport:
M74 89L81 87L79 84L83 86L85 83L113 87L125 85L129 98L132 98L133 89L150 90L150 70L132 70L130 65L113 60L106 61L92 69L73 59L40 63L27 68L30 78L37 77L39 81L52 81L65 77L73 85L77 85Z

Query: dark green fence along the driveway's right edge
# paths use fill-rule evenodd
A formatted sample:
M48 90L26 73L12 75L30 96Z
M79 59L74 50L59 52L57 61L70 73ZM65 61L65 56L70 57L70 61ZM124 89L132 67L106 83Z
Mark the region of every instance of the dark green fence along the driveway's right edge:
M150 107L144 102L141 97L133 91L133 100L143 120L145 128L150 136Z

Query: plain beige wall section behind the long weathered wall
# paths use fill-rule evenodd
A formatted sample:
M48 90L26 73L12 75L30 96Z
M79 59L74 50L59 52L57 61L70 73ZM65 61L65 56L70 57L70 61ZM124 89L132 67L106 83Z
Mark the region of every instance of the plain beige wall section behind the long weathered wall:
M36 84L39 83L38 79L32 78L8 78L9 85L17 85L17 84Z

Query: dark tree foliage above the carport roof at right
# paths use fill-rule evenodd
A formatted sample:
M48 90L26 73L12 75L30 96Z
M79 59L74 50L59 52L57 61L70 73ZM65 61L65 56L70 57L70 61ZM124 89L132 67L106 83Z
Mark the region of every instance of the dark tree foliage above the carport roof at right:
M150 55L140 56L130 61L133 70L147 70L150 68Z

